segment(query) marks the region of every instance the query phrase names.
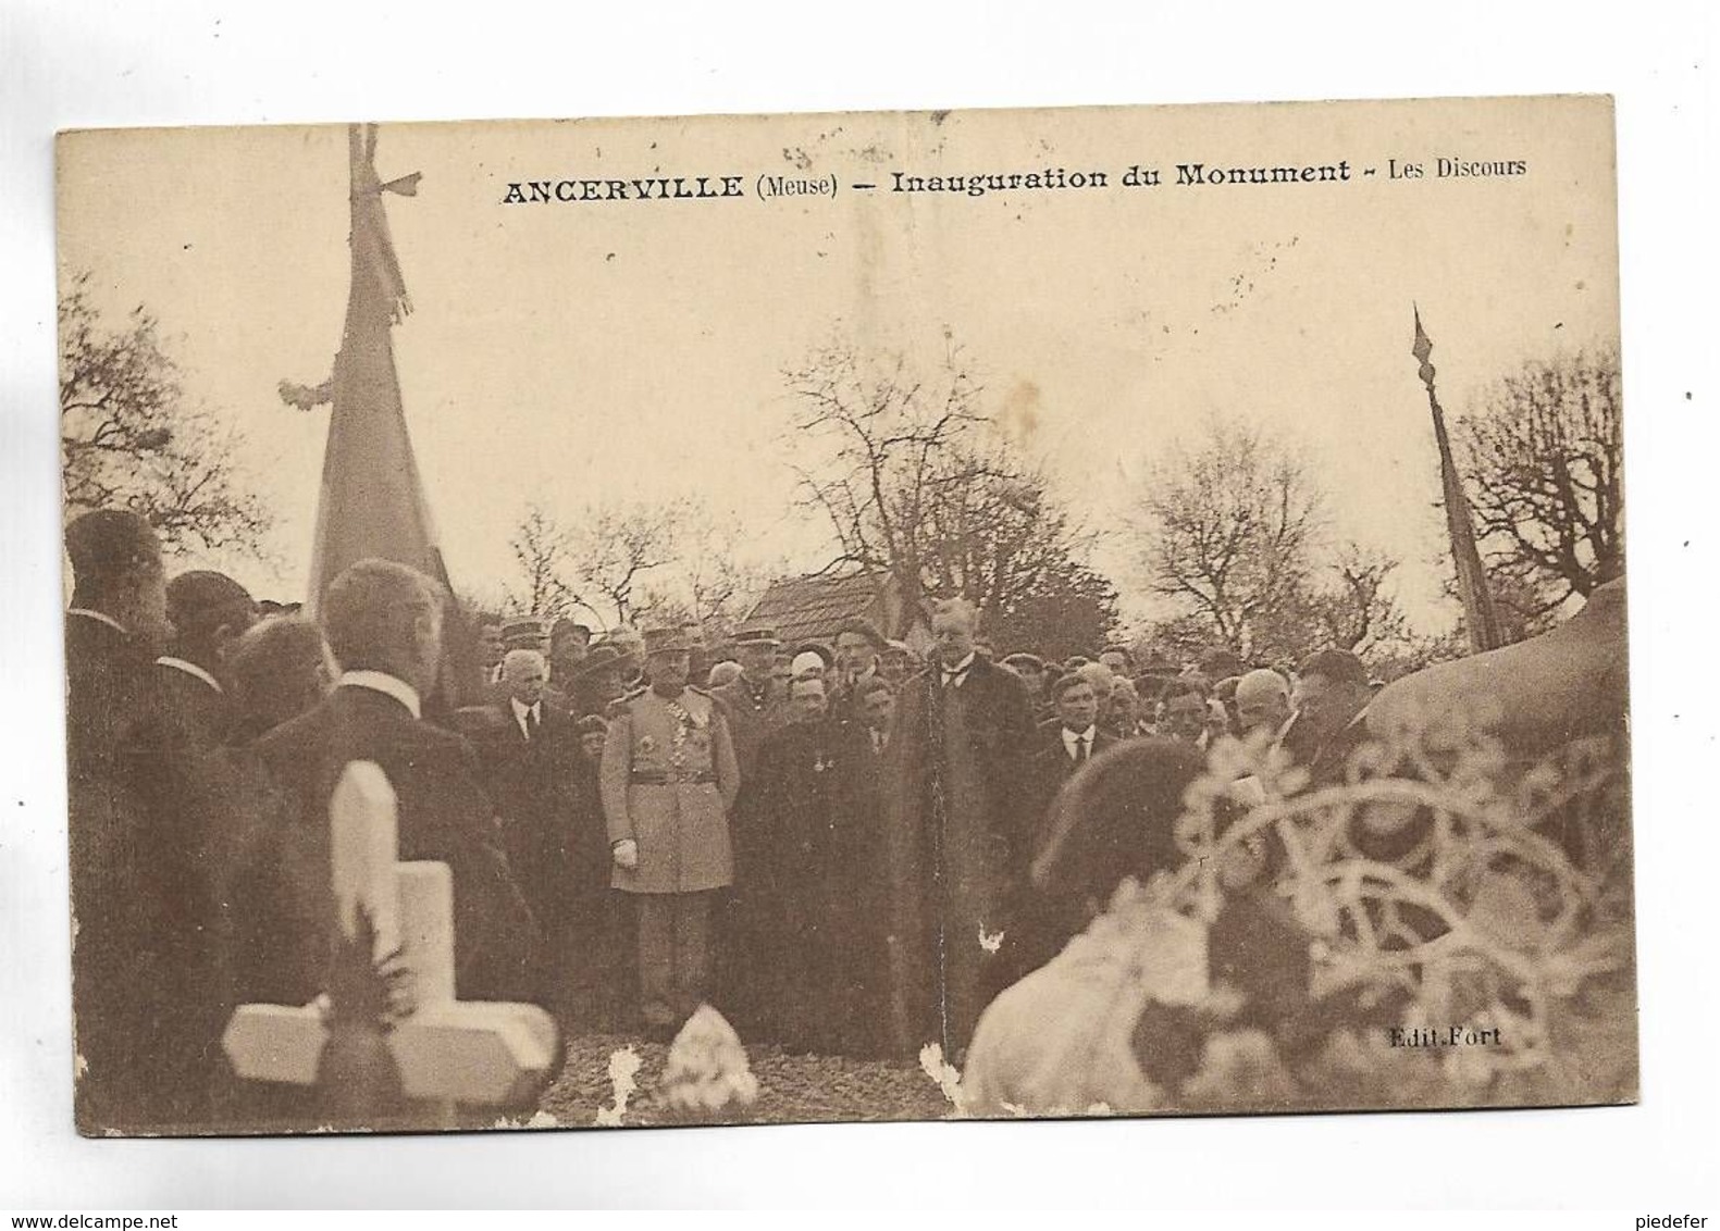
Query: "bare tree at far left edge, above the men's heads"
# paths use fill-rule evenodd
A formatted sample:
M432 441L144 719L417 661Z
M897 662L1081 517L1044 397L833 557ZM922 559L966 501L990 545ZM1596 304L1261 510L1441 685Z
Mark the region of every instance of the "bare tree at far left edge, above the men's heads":
M67 509L132 509L174 554L261 555L273 518L243 490L239 432L186 395L148 309L107 328L88 287L79 273L58 304Z

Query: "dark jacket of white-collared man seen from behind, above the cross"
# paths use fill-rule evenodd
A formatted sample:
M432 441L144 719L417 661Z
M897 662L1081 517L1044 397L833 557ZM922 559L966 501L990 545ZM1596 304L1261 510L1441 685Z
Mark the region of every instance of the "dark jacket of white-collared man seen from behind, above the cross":
M246 853L236 934L249 999L303 1004L322 990L334 927L329 799L347 762L382 767L399 806L399 858L454 877L461 999L530 999L537 923L502 854L495 810L463 736L415 719L384 693L342 686L255 744L279 793Z

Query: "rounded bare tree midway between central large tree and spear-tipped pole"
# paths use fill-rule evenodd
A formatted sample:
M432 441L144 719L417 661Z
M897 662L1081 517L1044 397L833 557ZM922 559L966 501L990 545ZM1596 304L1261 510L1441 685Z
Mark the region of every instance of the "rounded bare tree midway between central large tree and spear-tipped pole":
M1171 450L1139 502L1147 588L1202 617L1218 645L1264 650L1266 624L1307 591L1324 495L1257 428L1214 418L1195 452Z

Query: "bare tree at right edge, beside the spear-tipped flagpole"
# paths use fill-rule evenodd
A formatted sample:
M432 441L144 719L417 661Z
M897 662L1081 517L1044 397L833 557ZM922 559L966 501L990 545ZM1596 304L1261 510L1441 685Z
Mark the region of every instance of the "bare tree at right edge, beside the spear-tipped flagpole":
M1619 352L1577 352L1505 377L1457 440L1490 571L1533 619L1624 573Z

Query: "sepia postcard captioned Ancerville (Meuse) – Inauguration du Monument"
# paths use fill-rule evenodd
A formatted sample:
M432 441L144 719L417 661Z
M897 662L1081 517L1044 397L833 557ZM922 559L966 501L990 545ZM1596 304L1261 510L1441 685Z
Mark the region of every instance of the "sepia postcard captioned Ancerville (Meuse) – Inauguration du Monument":
M1608 98L58 139L88 1135L1634 1102Z

